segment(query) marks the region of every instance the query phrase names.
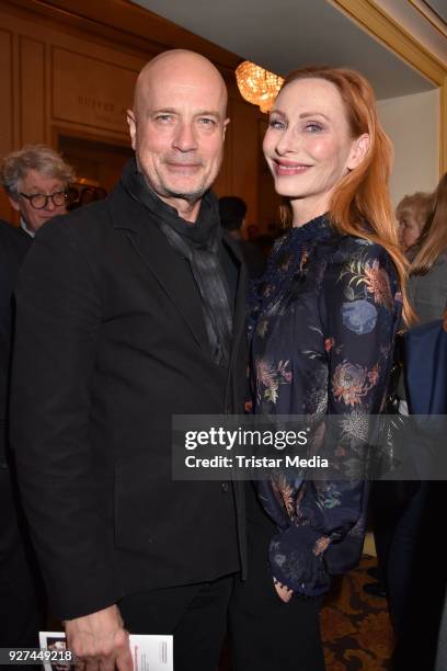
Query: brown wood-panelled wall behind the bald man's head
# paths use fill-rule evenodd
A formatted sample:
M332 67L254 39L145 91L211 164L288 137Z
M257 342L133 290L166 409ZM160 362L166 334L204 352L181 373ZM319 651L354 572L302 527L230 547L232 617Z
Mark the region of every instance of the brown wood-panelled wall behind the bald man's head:
M119 174L117 161L125 160L129 147L125 111L131 106L137 72L163 48L196 48L217 64L229 89L231 123L215 191L243 197L248 223L262 225L259 122L265 115L239 94L238 57L121 0L95 0L90 19L88 2L83 16L77 14L79 3L67 2L60 9L57 4L64 2L51 7L37 0L0 0L0 158L25 143L46 143L79 164L79 177L84 169L87 178L100 175L110 187ZM98 21L95 11L101 8ZM135 31L140 31L139 37ZM88 150L82 159L83 147ZM103 160L114 148L116 157L100 166L95 147ZM272 182L264 180L263 192L268 189L273 193ZM1 193L0 217L16 223Z

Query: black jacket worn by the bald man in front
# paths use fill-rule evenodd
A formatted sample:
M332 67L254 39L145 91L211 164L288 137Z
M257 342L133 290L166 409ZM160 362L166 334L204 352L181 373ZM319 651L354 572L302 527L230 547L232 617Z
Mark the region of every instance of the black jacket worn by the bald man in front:
M217 366L188 263L119 184L36 236L16 291L11 435L56 615L240 568L238 486L173 481L172 414L241 412L245 275L230 372Z

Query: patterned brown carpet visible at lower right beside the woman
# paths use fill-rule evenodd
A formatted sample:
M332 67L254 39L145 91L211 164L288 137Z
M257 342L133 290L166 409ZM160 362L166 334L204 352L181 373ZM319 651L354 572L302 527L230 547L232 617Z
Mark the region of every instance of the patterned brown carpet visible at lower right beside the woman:
M376 565L364 556L358 568L333 584L321 612L328 671L390 669L393 636L385 599L366 594L367 569Z

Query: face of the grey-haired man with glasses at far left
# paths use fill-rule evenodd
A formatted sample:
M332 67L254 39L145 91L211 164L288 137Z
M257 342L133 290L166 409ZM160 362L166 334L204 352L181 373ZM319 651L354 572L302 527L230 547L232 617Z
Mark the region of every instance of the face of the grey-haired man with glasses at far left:
M55 193L64 192L64 190L65 185L60 180L43 174L37 170L28 170L20 184L20 192L28 196L36 193L53 195ZM50 198L48 198L46 206L42 209L36 209L33 207L30 198L26 198L23 195L19 195L18 200L10 196L9 201L12 207L16 212L20 212L26 227L32 231L38 230L41 226L51 217L67 213L65 202L61 205L54 205Z

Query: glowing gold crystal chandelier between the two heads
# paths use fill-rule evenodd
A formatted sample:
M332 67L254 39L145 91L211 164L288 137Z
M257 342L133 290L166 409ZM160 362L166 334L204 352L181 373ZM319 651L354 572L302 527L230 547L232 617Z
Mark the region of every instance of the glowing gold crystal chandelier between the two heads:
M242 98L259 105L261 112L268 112L284 82L283 77L250 60L244 60L236 68L236 80Z

